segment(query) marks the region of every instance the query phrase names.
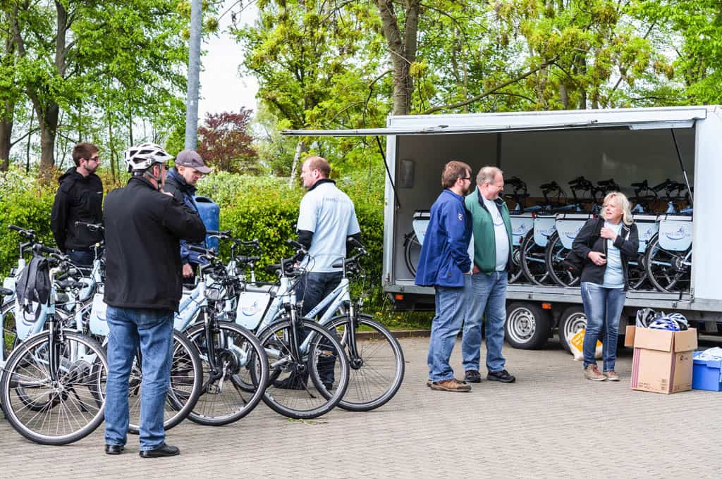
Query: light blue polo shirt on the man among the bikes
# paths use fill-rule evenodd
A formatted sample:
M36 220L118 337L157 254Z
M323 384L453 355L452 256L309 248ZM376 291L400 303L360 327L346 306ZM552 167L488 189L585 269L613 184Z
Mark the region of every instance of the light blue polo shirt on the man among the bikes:
M317 183L303 196L296 229L313 232L301 266L315 273L341 271L331 265L346 257L347 237L361 232L354 203L331 182Z

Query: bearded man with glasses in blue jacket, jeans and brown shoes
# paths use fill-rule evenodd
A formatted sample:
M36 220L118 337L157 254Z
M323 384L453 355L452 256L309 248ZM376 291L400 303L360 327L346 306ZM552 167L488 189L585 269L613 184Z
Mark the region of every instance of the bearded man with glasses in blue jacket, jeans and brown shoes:
M453 375L449 364L461 330L471 285L471 217L464 195L471 190L471 167L448 162L441 174L444 190L431 206L416 273L418 286L434 286L436 315L429 340L429 381L432 390L467 392L471 386Z

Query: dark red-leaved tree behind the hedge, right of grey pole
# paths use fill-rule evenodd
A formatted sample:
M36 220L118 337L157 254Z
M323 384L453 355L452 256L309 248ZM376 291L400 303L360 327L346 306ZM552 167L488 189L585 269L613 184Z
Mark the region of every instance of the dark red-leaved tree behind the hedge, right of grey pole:
M206 164L232 173L260 172L258 155L251 148L253 137L248 134L252 111L241 107L240 113L206 113L196 149Z

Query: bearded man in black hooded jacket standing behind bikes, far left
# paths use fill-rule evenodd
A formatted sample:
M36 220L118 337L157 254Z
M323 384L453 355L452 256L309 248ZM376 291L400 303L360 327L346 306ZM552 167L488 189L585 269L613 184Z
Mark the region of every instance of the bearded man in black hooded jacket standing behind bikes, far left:
M76 221L103 221L103 182L95 175L100 164L98 149L92 143L79 143L73 149L74 168L69 168L58 180L50 228L55 242L70 260L80 266L93 261L92 245L103 239L103 233L92 232Z

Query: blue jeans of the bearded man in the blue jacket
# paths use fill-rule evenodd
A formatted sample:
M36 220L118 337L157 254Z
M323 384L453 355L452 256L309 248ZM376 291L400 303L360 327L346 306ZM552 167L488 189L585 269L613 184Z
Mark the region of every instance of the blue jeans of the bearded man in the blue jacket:
M471 275L468 274L464 275L464 286L436 286L436 315L431 322L429 354L426 359L429 379L433 382L453 379L449 358L456 344L456 336L464 324L470 288Z

